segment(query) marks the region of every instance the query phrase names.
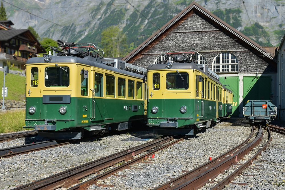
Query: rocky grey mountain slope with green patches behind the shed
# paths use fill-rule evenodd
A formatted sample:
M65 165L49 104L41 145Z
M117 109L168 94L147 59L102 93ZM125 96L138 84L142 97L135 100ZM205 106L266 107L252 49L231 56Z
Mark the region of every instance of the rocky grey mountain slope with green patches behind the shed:
M158 28L187 7L192 0L128 0ZM119 25L130 46L138 46L157 27L125 0L13 0L4 2L15 28L34 27L41 37L98 44L101 32ZM263 46L280 43L285 28L285 0L196 0L197 3ZM246 7L246 9L245 9ZM247 16L247 13L248 16ZM250 19L249 19L250 18ZM53 22L53 23L52 23ZM56 23L56 24L55 24Z

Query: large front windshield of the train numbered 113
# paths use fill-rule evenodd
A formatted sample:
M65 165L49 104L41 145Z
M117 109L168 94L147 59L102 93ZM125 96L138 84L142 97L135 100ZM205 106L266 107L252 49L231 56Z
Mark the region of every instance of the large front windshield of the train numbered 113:
M46 87L69 86L69 67L46 67L44 85Z

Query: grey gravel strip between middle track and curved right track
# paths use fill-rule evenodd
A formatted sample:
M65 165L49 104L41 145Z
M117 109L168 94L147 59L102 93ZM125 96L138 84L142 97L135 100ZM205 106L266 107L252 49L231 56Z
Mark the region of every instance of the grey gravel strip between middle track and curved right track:
M169 148L158 151L154 158L147 162L137 163L130 169L123 169L116 177L114 175L99 180L99 184L114 185L103 187L93 184L89 189L152 189L169 181L170 178L182 175L183 170L190 171L207 162L209 157L227 152L244 141L250 134L251 128L223 122L198 133L195 137L185 139ZM95 175L94 175L95 176Z

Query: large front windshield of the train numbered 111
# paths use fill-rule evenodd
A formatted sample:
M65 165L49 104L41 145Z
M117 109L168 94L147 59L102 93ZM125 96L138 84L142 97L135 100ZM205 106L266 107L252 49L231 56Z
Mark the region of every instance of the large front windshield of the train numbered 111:
M188 73L167 73L166 89L168 90L187 90L189 87Z

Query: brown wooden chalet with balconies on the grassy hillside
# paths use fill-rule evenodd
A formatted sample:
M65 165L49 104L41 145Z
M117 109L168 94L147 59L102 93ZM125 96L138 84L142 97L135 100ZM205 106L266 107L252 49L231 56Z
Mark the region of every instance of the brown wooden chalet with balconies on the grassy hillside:
M13 29L11 21L0 21L0 68L8 63L24 69L29 56L45 53L38 40L28 29Z

